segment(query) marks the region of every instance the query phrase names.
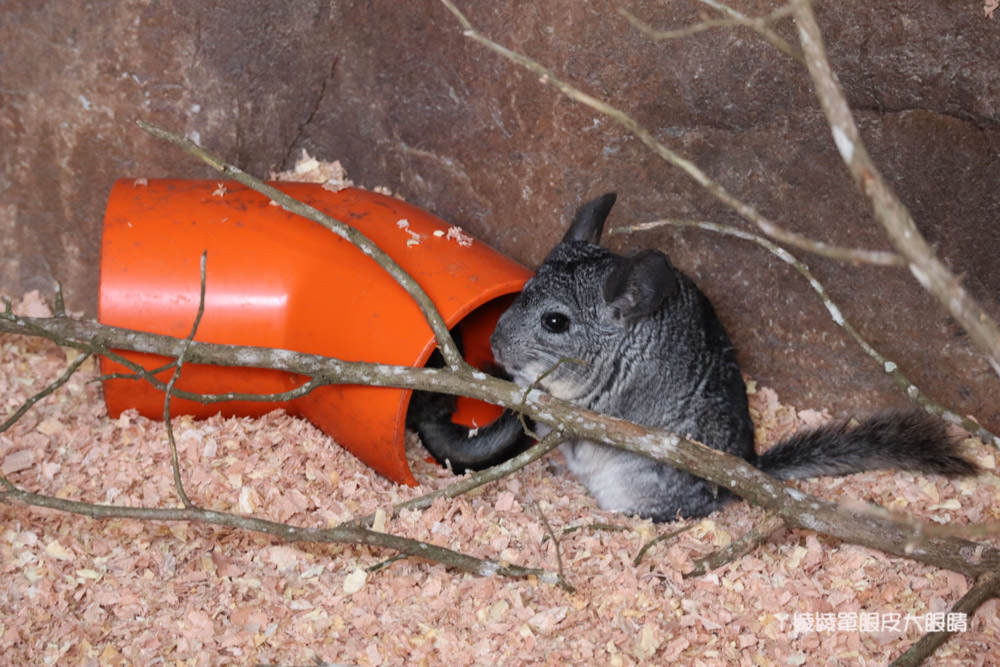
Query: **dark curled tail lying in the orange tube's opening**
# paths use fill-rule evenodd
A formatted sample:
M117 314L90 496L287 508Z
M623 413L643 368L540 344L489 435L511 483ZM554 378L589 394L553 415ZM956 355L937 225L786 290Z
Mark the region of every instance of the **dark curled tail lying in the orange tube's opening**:
M520 417L510 410L478 430L469 430L450 419L419 421L414 430L438 463L451 465L456 474L503 463L527 449L531 442Z

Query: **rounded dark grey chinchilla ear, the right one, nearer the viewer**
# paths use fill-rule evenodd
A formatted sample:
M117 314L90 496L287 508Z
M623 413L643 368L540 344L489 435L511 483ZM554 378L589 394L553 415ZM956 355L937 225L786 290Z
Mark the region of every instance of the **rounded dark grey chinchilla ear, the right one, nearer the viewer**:
M604 281L604 300L618 317L636 320L677 293L677 274L659 250L620 257Z

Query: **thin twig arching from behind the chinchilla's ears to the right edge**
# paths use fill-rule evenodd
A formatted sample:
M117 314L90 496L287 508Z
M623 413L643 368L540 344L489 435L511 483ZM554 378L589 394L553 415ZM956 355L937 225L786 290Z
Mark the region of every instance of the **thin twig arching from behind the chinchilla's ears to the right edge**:
M642 222L635 225L629 225L627 227L616 227L609 230L609 235L614 234L627 234L631 232L640 232L650 229L657 229L666 225L674 227L694 227L696 229L702 229L705 231L714 232L716 234L723 234L725 236L732 236L744 241L751 241L761 246L768 252L772 253L775 257L781 261L789 264L792 268L798 271L803 278L809 283L809 286L813 289L819 298L823 301L823 305L826 306L827 312L830 313L830 318L833 322L842 328L847 335L854 339L854 342L864 350L865 354L875 360L882 371L892 378L892 381L897 387L903 392L910 400L917 403L924 410L932 415L940 417L946 421L953 424L958 424L964 428L969 433L974 434L976 437L980 438L983 442L992 442L995 446L1000 447L1000 436L995 435L992 431L984 427L979 422L960 415L954 410L949 410L943 405L936 403L931 400L927 394L925 394L921 389L910 381L910 379L899 369L899 366L892 360L886 358L881 352L876 350L871 343L865 340L864 337L858 332L854 325L844 317L843 312L840 307L833 301L830 293L826 291L823 284L816 279L809 267L797 259L790 252L782 248L781 246L773 243L772 241L760 236L758 234L753 234L751 232L744 231L742 229L737 229L729 225L720 225L714 222L706 222L701 220L676 220L676 219L662 219L654 220L652 222Z

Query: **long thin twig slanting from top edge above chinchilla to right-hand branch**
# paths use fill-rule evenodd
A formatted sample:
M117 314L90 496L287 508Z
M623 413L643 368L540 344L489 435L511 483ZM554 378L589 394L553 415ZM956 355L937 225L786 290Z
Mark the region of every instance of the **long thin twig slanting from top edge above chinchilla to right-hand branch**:
M757 225L765 234L768 236L786 243L788 245L794 246L796 248L802 248L819 255L826 257L831 257L833 259L852 262L852 263L865 263L865 264L877 264L881 266L903 266L903 259L892 252L885 252L879 250L863 250L854 248L842 248L839 246L833 246L822 241L815 241L797 232L792 232L784 229L771 220L767 219L764 215L758 212L754 207L746 202L737 199L732 194L729 193L721 184L716 183L708 174L702 171L697 165L695 165L690 160L681 157L680 154L668 148L665 144L661 143L653 136L653 134L635 121L631 116L627 115L625 112L616 109L607 102L603 102L592 95L581 91L580 89L566 83L559 77L555 75L551 70L543 67L537 61L528 58L525 55L517 53L516 51L511 51L510 49L501 46L500 44L494 42L488 37L484 36L478 32L469 20L465 17L462 12L458 10L457 7L451 2L451 0L441 0L442 4L448 8L448 10L455 16L459 24L462 26L463 34L471 40L479 42L480 44L486 46L488 49L499 53L511 62L517 63L521 67L527 69L530 72L537 74L543 83L547 83L559 92L561 92L566 97L576 100L581 104L584 104L591 109L594 109L598 113L601 113L608 118L614 120L616 123L624 127L626 130L631 132L637 139L649 147L654 153L660 156L662 159L666 160L675 167L681 169L684 173L690 176L696 183L707 190L712 196L726 204L734 211L736 211L740 216L749 220L753 224Z

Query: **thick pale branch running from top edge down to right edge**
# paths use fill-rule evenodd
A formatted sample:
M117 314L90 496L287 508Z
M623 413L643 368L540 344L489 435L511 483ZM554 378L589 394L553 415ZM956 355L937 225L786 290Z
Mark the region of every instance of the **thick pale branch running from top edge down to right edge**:
M905 258L910 273L968 332L969 339L1000 375L1000 327L937 258L909 210L882 178L868 155L844 92L833 75L809 0L793 0L792 4L809 75L844 164L871 202L875 218L892 245Z

